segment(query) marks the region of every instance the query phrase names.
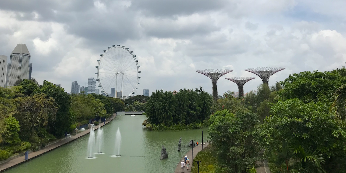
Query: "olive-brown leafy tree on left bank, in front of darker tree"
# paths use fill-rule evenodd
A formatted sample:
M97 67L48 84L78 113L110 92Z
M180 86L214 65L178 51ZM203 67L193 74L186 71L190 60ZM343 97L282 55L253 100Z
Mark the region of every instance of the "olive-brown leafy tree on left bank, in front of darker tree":
M35 135L35 125L47 127L49 121L55 119L56 107L54 99L47 98L46 94L35 94L24 98L17 98L18 111L25 121L31 124L31 136Z

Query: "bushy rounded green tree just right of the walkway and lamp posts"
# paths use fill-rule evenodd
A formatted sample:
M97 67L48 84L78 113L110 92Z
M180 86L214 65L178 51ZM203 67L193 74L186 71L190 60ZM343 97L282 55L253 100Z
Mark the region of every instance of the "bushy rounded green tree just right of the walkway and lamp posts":
M257 115L247 109L236 114L218 111L209 126L209 138L216 149L219 171L247 173L260 159L261 146L256 139ZM212 118L210 118L212 119Z

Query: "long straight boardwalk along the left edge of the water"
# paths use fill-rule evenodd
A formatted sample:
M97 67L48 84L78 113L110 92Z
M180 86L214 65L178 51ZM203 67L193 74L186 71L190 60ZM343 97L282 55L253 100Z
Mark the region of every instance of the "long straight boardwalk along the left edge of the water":
M112 117L108 118L107 121L106 121L106 124L109 123L112 120L113 120ZM104 125L104 123L100 123L99 125L94 127L94 130L98 129L99 127L102 127L103 125ZM78 138L80 138L80 137L82 137L84 135L87 135L88 133L90 133L90 129L87 129L85 131L81 131L80 133L78 133L78 134L76 134L74 136L71 136L69 138L65 138L64 140L61 140L59 142L56 142L56 143L51 144L49 146L46 146L46 147L44 147L44 148L42 148L42 149L40 149L38 151L29 153L28 160L24 160L25 155L23 155L23 156L20 156L18 158L12 159L12 160L10 160L8 162L5 162L5 163L0 165L0 172L6 171L6 170L8 170L8 169L10 169L12 167L15 167L15 166L21 164L21 163L25 163L25 162L33 159L33 158L36 158L36 157L38 157L40 155L43 155L43 154L45 154L47 152L50 152L50 151L52 151L52 150L54 150L54 149L56 149L58 147L61 147L61 146L65 145L65 144L67 144L67 143L72 142L73 140L76 140L76 139L78 139Z

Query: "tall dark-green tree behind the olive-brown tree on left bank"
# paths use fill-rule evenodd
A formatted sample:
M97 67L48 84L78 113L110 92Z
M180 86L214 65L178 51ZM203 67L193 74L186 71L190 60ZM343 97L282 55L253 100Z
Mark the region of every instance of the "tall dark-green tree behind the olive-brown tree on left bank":
M48 123L48 132L56 137L62 137L72 124L70 120L71 97L64 88L53 85L48 81L43 81L37 93L44 93L47 97L52 97L57 106L56 118Z

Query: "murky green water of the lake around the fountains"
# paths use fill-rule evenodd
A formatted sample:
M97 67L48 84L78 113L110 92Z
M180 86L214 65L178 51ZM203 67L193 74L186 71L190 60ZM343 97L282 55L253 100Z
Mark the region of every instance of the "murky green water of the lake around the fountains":
M85 135L6 173L170 173L174 172L183 155L191 150L188 146L190 140L201 143L201 130L204 130L203 140L207 141L207 128L188 131L146 131L142 126L144 119L144 115L117 116L101 127L104 135L102 152L105 154L95 155L95 159L85 159L89 139L89 135ZM113 158L110 156L115 154L115 134L118 127L121 133L121 157ZM97 132L95 131L96 136ZM177 152L180 136L181 151ZM160 160L162 145L168 153L165 160Z

